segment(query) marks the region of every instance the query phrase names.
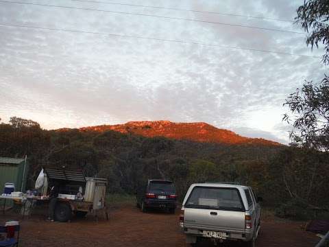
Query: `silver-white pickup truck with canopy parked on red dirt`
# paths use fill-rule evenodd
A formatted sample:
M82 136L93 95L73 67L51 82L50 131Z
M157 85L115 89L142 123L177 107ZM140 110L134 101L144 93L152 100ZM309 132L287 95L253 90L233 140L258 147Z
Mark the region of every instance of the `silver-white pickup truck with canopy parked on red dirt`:
M226 183L199 183L188 189L180 226L186 243L197 246L202 238L213 242L239 240L255 246L260 229L260 205L250 187Z

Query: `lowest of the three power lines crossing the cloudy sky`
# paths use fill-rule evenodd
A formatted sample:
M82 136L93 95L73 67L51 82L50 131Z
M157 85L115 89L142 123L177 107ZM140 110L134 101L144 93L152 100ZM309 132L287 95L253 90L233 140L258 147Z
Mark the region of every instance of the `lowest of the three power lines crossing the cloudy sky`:
M53 28L53 27L36 27L31 25L19 25L19 24L10 24L10 23L0 23L0 26L3 27L22 27L22 28L30 28L36 30L49 30L49 31L56 31L56 32L74 32L80 34L95 34L95 35L102 35L102 36L112 36L112 37L122 37L122 38L139 38L144 40L156 40L161 42L171 42L171 43L181 43L181 44L188 44L188 45L202 45L206 47L217 47L217 48L224 48L224 49L241 49L245 51L259 51L268 54L280 54L280 55L289 55L289 56L299 56L303 58L321 58L321 56L308 56L302 54L291 54L288 52L282 51L269 51L269 50L262 50L262 49L252 49L252 48L245 48L245 47L232 47L226 45L215 45L215 44L208 44L208 43L199 43L196 41L188 41L188 40L174 40L174 39L167 39L167 38L152 38L152 37L145 37L145 36L134 36L134 35L127 35L127 34L110 34L110 33L101 33L101 32L87 32L83 30L66 30L61 28Z

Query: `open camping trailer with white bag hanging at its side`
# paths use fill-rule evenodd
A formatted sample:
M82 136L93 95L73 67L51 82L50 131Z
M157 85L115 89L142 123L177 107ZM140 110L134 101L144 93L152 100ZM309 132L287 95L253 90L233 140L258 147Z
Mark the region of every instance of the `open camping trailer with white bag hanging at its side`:
M82 172L66 169L42 169L36 180L38 198L47 202L49 189L58 187L58 200L55 207L55 218L60 222L71 220L73 215L84 216L88 212L97 216L106 211L105 178L85 177Z

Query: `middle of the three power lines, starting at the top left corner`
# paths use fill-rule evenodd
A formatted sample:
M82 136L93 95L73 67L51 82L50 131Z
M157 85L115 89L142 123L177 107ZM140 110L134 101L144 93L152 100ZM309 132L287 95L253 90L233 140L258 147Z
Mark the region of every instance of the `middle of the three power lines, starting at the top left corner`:
M114 13L114 14L130 14L130 15L137 15L137 16L149 16L149 17L156 17L156 18L162 18L162 19L171 19L171 20L179 20L179 21L193 21L193 22L200 22L200 23L226 25L226 26L230 26L230 27L245 27L245 28L252 28L252 29L256 29L256 30L265 30L265 31L271 31L271 32L284 32L284 33L290 33L290 34L305 35L305 33L303 33L303 32L293 32L293 31L288 31L288 30L278 30L278 29L267 28L267 27L254 27L254 26L249 26L249 25L240 25L240 24L232 24L232 23L221 23L221 22L216 22L216 21L203 21L203 20L198 20L198 19L186 19L186 18L173 17L173 16L159 16L159 15L156 15L156 14L141 14L141 13L134 13L134 12L119 12L119 11L112 11L112 10L97 10L97 9L92 9L92 8L78 8L78 7L71 7L71 6L49 5L49 4L42 4L42 3L25 3L25 2L20 2L20 1L0 0L0 3L38 5L38 6L51 7L51 8L67 8L67 9L73 9L73 10L89 10L89 11L107 12L107 13Z

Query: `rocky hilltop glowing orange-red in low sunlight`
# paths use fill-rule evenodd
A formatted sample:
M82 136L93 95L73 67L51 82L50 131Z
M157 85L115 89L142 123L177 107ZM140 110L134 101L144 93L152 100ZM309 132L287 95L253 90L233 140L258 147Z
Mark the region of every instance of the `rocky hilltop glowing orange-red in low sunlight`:
M280 143L258 138L241 137L230 130L223 130L206 123L173 123L171 121L130 121L126 124L90 126L81 131L114 130L121 133L140 134L144 137L167 137L190 141L226 144L260 144L282 145Z

